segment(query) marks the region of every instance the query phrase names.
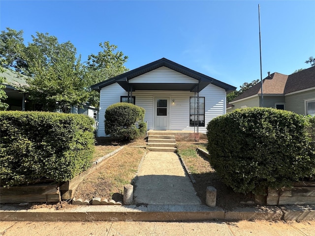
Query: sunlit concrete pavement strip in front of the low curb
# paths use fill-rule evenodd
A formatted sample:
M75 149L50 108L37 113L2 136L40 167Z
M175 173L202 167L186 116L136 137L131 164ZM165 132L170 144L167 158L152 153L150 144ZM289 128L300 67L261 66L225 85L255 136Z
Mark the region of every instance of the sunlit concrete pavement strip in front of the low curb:
M315 221L0 222L0 236L315 236Z

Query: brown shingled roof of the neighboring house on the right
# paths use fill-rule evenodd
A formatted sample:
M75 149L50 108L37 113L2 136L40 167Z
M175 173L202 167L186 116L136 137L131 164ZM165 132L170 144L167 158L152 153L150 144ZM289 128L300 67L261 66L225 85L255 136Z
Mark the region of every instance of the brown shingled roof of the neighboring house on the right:
M263 79L264 95L285 95L289 92L296 92L313 87L315 87L315 66L291 75L275 72ZM261 94L260 82L234 98L230 103L259 94Z

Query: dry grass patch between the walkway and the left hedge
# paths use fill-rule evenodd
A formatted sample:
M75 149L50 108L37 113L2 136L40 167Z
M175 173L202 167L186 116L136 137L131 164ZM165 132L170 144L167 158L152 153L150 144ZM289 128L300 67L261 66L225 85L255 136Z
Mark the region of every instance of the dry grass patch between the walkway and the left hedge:
M124 185L131 183L144 154L144 148L126 146L116 155L104 160L102 167L84 178L78 185L74 197L83 200L104 197L108 200L123 201Z

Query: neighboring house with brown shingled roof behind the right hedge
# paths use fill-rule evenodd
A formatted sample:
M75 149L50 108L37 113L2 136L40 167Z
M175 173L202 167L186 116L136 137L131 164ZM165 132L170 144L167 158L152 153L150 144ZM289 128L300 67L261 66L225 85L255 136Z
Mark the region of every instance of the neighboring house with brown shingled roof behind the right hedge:
M227 106L227 112L237 108L261 106L261 83L237 96ZM263 80L263 106L315 115L315 66L283 75L273 73Z

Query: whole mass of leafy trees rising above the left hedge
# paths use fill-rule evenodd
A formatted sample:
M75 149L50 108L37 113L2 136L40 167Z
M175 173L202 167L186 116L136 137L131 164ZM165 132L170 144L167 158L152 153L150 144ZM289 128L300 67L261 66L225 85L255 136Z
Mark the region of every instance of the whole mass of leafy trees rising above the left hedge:
M128 70L124 66L128 57L116 45L106 41L99 46L102 51L82 63L70 41L60 43L48 33L36 32L28 45L23 30L6 28L0 34L0 58L6 60L3 66L30 77L29 86L20 89L43 111L70 112L72 106L86 102L99 106L99 94L91 85Z

